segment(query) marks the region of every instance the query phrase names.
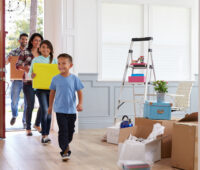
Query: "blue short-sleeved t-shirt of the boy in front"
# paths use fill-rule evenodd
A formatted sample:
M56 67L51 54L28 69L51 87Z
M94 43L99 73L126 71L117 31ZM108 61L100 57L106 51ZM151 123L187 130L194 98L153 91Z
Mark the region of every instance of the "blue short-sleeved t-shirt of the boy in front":
M60 74L53 77L50 85L51 90L56 91L54 111L57 113L76 114L76 94L83 89L80 79L74 74L63 77Z

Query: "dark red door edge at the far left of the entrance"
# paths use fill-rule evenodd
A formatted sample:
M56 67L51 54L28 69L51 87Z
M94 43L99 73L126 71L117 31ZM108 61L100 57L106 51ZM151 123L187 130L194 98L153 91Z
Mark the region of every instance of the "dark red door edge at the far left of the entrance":
M5 0L0 1L0 138L5 138Z

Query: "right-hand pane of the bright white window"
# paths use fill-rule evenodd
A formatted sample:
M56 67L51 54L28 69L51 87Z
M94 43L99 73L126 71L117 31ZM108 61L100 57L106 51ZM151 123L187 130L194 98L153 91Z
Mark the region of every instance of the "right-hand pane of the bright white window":
M190 9L152 6L149 15L157 79L189 80Z

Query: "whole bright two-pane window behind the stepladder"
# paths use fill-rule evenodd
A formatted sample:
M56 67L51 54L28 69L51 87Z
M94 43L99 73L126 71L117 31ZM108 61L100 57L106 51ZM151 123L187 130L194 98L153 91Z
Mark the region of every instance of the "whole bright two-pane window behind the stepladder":
M191 27L191 8L102 2L100 79L121 81L131 38L152 36L156 78L190 80ZM133 58L147 57L144 44L133 48Z

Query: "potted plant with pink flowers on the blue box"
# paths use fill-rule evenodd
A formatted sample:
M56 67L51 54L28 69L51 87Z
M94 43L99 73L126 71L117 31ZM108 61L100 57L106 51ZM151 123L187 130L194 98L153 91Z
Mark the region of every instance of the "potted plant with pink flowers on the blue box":
M168 92L167 82L163 80L157 80L153 82L154 90L157 93L157 102L161 103L165 101L165 93Z

